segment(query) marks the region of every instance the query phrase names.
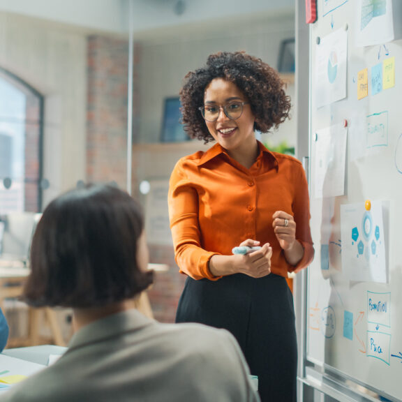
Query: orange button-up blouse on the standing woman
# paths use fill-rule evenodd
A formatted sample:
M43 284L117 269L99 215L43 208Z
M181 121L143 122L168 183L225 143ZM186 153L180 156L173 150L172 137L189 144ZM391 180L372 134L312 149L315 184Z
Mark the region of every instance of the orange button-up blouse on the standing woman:
M296 158L258 144L260 154L250 169L234 161L219 144L181 158L174 167L169 216L182 274L216 281L221 276L211 274L209 259L214 254L231 255L232 248L245 239L271 244L271 272L277 275L287 277L313 260L304 169ZM292 214L296 239L304 247L295 267L285 260L272 228L272 215L279 210Z

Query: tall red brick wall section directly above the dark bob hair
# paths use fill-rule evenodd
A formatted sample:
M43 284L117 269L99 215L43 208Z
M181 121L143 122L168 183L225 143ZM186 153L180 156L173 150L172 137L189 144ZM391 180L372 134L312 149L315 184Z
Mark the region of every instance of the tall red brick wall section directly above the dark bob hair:
M89 36L87 181L126 186L128 42Z

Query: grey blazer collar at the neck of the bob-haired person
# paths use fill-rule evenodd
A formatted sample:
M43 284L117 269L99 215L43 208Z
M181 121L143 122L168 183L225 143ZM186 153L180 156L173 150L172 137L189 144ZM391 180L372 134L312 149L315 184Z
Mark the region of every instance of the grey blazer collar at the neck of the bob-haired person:
M68 344L70 350L81 348L84 345L98 343L108 338L114 338L124 332L135 332L137 329L153 325L156 321L145 317L139 311L132 308L109 315L101 320L96 320L77 331Z

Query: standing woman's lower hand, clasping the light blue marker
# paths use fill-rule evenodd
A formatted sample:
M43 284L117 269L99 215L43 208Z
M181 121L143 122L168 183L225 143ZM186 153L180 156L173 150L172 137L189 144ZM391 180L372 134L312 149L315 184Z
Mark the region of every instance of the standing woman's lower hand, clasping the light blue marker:
M259 246L260 241L247 239L242 241L239 246L255 247ZM262 278L271 274L272 248L269 243L264 244L260 250L252 251L245 255L234 255L237 258L235 265L240 274L251 276L252 278Z

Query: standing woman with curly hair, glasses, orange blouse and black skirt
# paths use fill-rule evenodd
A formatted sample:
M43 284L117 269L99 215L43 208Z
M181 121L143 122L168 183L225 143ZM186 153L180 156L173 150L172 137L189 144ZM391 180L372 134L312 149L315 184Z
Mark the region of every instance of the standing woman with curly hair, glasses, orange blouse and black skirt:
M313 259L306 176L255 138L288 117L276 71L244 52L211 54L180 92L188 135L216 142L170 178L175 258L187 275L177 322L237 338L262 402L296 401L297 338L288 272ZM247 246L246 254L232 253Z

